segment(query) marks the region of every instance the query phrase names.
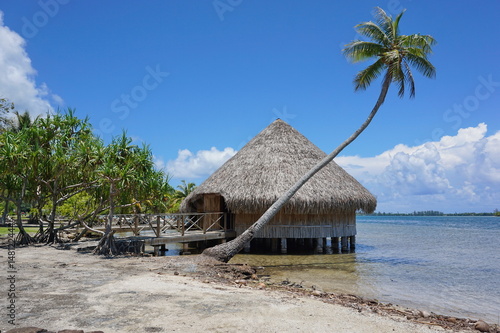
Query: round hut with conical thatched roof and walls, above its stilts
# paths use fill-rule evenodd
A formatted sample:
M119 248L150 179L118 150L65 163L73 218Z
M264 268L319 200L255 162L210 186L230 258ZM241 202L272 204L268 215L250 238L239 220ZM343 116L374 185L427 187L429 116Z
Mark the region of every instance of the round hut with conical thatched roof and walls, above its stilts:
M325 156L306 137L278 119L196 188L181 210L226 211L233 216L234 227L240 233ZM292 197L259 237L351 236L355 234L355 212L371 213L375 207L375 197L331 162ZM308 226L315 228L304 231Z

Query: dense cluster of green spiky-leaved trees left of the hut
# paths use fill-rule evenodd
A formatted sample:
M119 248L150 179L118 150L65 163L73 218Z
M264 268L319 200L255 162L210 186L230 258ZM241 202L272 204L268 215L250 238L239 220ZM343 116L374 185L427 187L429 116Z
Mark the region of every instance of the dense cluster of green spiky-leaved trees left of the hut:
M18 243L59 242L62 228L92 230L97 216L108 214L99 252L112 254L113 214L165 213L179 206L183 196L169 185L168 175L155 169L149 146L133 144L125 132L105 144L89 120L72 109L31 119L7 100L0 102L1 221L16 217ZM6 119L10 113L13 120ZM183 194L193 188L187 184ZM26 212L31 223L40 225L35 235L24 228ZM69 224L56 226L58 217Z

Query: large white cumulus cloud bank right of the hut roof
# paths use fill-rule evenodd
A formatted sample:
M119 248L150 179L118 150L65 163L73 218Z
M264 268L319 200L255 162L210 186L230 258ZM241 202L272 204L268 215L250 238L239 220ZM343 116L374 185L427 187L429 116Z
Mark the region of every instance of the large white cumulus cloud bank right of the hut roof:
M493 211L500 207L500 131L484 123L455 136L336 162L378 197L380 211Z

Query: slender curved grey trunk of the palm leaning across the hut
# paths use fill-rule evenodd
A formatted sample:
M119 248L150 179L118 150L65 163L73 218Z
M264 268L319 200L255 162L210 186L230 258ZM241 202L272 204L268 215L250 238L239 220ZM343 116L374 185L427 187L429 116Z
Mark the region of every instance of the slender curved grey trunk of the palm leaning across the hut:
M287 192L285 192L268 210L255 222L252 224L245 232L236 237L230 242L216 245L214 247L208 248L203 251L204 255L213 257L222 262L228 262L234 257L238 252L240 252L246 243L250 242L254 235L262 229L269 221L279 212L279 210L292 198L292 196L309 180L314 176L319 170L330 163L345 147L347 147L351 142L353 142L370 124L373 117L377 113L380 106L384 103L387 92L389 91L389 86L391 84L392 77L387 73L384 77L384 82L382 84L382 90L377 99L377 103L372 109L372 112L368 115L365 122L354 132L347 140L342 142L333 152L322 159L318 164L316 164L311 170L309 170L302 178L300 178Z

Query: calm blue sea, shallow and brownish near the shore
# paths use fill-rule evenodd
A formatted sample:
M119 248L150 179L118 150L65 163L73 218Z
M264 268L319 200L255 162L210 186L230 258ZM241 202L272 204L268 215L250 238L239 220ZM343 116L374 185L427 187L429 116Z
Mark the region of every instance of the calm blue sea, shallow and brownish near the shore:
M500 321L500 217L358 216L348 254L239 254L273 282Z

